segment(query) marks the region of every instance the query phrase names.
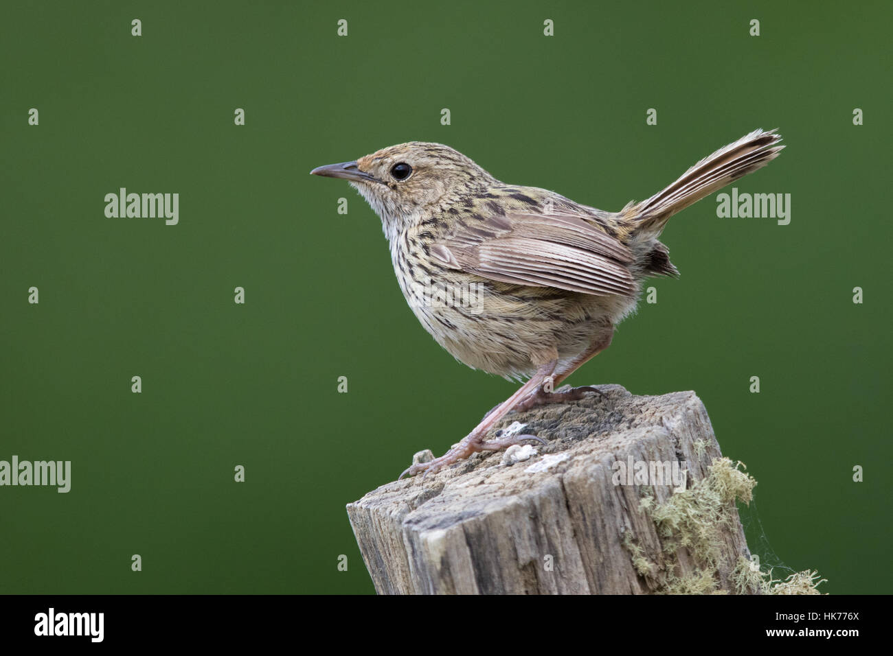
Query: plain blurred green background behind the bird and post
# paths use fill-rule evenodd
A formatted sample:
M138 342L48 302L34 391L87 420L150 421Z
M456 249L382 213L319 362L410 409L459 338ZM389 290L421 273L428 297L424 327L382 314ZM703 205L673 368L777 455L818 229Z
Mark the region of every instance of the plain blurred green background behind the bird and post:
M372 591L346 502L514 386L433 342L313 167L439 141L618 210L762 127L788 148L737 186L789 193L790 225L675 217L681 279L572 383L695 390L759 481L764 563L889 593L893 12L792 5L4 3L0 459L72 486L0 488L0 591ZM178 192L179 225L105 218L119 187Z

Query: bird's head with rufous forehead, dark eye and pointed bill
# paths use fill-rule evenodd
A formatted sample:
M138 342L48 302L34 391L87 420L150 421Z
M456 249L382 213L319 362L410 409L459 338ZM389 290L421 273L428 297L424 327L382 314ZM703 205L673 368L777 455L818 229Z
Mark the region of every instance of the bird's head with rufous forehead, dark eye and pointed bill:
M496 182L448 145L423 141L391 145L354 162L310 172L349 180L380 216L388 237L456 197Z

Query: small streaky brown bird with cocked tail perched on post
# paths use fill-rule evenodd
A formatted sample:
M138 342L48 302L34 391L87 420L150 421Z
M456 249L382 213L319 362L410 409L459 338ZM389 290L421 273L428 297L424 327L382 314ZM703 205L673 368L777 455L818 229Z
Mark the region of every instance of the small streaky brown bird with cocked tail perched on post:
M397 282L439 345L473 369L527 378L453 449L401 477L522 440L543 442L484 438L510 411L597 392L553 390L611 344L645 278L679 275L657 241L667 220L771 162L780 140L775 130L757 129L620 212L507 185L442 144L392 145L313 169L350 180L380 216Z

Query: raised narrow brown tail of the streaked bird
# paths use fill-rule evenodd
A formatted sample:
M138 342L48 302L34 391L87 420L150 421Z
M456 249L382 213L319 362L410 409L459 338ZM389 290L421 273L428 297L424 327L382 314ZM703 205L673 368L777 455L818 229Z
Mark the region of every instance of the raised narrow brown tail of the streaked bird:
M636 224L635 232L646 237L661 234L667 220L676 212L701 200L730 182L772 162L783 145L774 129L756 129L738 141L720 148L687 170L669 187L636 203L624 213Z

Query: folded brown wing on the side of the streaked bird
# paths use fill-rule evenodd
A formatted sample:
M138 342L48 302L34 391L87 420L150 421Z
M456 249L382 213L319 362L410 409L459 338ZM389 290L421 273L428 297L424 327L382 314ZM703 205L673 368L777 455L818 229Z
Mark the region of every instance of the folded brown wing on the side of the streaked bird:
M634 291L630 249L579 216L509 212L463 219L430 247L441 264L514 285L592 295Z

